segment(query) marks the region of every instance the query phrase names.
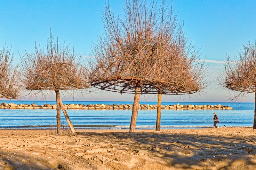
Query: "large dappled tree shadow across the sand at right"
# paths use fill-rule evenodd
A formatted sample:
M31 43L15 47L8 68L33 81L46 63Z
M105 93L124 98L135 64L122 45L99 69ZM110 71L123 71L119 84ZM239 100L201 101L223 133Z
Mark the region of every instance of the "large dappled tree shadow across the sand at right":
M182 133L76 133L82 138L101 138L99 143L124 145L131 154L158 157L159 164L172 168L217 169L256 167L254 136L198 135ZM97 142L97 141L96 141ZM140 154L142 153L142 154ZM239 168L240 167L240 168ZM210 169L212 169L210 168Z

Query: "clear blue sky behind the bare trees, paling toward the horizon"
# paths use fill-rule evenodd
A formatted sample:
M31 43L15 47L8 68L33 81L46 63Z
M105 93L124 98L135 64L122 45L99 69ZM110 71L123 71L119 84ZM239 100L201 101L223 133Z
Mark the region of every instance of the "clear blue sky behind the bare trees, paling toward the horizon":
M116 15L123 14L124 2L109 0ZM4 1L0 0L0 46L12 46L15 63L19 63L19 53L24 49L34 49L35 41L44 45L50 33L60 42L70 43L77 53L86 56L91 51L95 39L103 33L101 20L105 1ZM187 102L228 102L229 91L219 89L214 82L216 74L223 68L226 53L236 53L243 44L256 39L256 15L254 0L173 0L178 18L184 22L184 30L193 38L196 46L201 46L201 59L209 63L205 93ZM76 97L79 99L79 97ZM26 98L25 98L26 99ZM51 99L51 98L49 98ZM52 98L54 99L54 98ZM72 97L73 99L73 97ZM133 95L107 94L104 91L84 94L86 101L132 101ZM155 95L141 96L141 101L156 101ZM183 101L177 96L163 96L163 101ZM249 95L244 102L253 102Z

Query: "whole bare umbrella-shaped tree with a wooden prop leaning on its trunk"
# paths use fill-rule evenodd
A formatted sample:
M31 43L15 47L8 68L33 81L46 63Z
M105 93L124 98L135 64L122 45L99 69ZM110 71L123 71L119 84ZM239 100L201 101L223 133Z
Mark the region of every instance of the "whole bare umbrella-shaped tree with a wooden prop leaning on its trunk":
M60 108L62 109L70 130L75 130L64 105L60 99L60 90L76 90L88 88L81 66L81 55L65 44L54 41L52 34L48 38L45 49L35 45L35 51L21 55L21 79L25 89L53 90L57 103L57 134L60 134Z

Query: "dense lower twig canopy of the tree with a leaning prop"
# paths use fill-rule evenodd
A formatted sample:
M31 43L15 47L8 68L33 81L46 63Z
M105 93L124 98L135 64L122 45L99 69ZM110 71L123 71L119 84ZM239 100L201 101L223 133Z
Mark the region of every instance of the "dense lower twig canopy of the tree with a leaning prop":
M41 59L42 60L42 59ZM75 59L72 61L74 62ZM40 62L40 61L39 61ZM50 61L52 62L52 61ZM34 73L25 84L28 90L76 90L86 89L90 85L83 79L83 72L79 72L78 64L69 62L43 62L44 65L37 65ZM40 68L41 67L41 68ZM37 69L37 70L36 70Z

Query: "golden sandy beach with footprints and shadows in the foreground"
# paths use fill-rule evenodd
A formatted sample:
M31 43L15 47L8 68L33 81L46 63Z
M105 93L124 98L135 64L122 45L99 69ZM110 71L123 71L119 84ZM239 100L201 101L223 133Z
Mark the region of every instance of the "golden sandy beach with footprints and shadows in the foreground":
M0 169L255 169L252 128L0 130Z

